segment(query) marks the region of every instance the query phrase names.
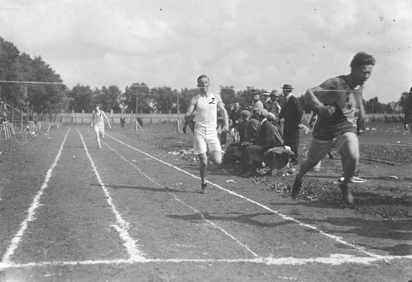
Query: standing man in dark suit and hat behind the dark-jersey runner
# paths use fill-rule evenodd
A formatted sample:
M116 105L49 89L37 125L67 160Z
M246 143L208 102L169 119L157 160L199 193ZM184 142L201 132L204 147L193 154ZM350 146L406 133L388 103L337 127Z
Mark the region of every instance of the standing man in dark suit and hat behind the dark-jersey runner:
M292 85L285 84L281 87L286 102L279 114L279 120L284 119L283 139L284 145L291 147L291 164L298 164L299 128L301 128L303 110L296 97L292 95Z

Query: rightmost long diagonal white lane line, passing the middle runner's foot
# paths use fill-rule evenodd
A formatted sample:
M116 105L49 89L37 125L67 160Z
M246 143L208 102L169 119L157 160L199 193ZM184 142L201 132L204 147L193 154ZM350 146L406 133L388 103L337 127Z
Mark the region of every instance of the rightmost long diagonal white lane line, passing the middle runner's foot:
M119 140L119 139L117 139L117 138L115 138L115 137L113 137L113 136L111 136L111 135L107 135L107 136L109 136L109 137L110 137L111 139L113 139L113 140L116 140L117 142L121 143L122 145L125 145L126 147L129 147L129 148L131 148L131 149L133 149L133 150L135 150L135 151L137 151L137 152L140 152L141 154L145 154L147 157L150 157L150 158L152 158L152 159L154 159L154 160L156 160L156 161L159 161L159 162L161 162L162 164L166 164L166 166L170 166L170 167L172 167L172 168L175 168L176 170L181 171L182 173L186 173L188 176L192 176L193 178L200 179L200 177L195 176L195 175L193 175L192 173L190 173L190 172L188 172L188 171L185 171L185 170L183 170L183 169L181 169L181 168L178 168L177 166L174 166L173 164L169 164L169 163L167 163L166 161L162 161L161 159L157 159L157 157L153 157L151 154L147 154L146 152L143 152L143 151L141 151L140 149L137 149L137 148L135 148L135 147L133 147L133 146L131 146L131 145L128 145L128 144L126 144L125 142L123 142L123 141L121 141L121 140ZM305 228L312 229L313 231L317 231L318 233L320 233L320 234L322 234L322 235L325 235L327 238L330 238L330 239L332 239L332 240L334 240L334 241L336 241L336 242L338 242L338 243L341 243L342 245L346 245L346 246L351 247L351 248L353 248L353 249L355 249L355 250L358 250L359 252L363 252L365 255L368 255L368 256L370 256L370 257L376 257L376 258L382 257L382 256L376 255L376 254L374 254L374 253L372 253L372 252L368 252L364 247L360 247L360 246L358 246L358 245L354 245L354 244L348 243L348 242L344 241L344 240L343 240L341 237L339 237L339 236L326 233L325 231L322 231L322 230L318 229L316 226L312 226L312 225L310 225L310 224L303 223L302 221L298 221L297 219L294 219L294 218L291 217L291 216L286 216L286 215L284 215L284 214L281 214L280 212L277 212L277 211L275 211L274 209L271 209L271 208L265 206L264 204L260 204L260 202L256 202L256 201L254 201L254 200L251 200L251 199L249 199L248 197L245 197L245 196L240 195L240 194L238 194L238 193L236 193L236 192L233 192L232 190L223 188L222 186L217 185L217 184L215 184L215 183L212 183L212 182L210 182L210 181L207 181L207 183L210 183L211 185L214 185L214 187L216 187L216 188L218 188L218 189L220 189L220 190L224 190L225 192L228 192L228 193L231 194L231 195L234 195L234 196L236 196L236 197L240 197L240 198L243 199L243 200L246 200L246 201L248 201L248 202L251 202L251 203L253 203L253 204L256 204L257 206L262 207L263 209L266 209L267 211L272 212L273 214L276 214L277 216L280 216L281 219L284 219L284 220L286 220L286 221L292 221L292 222L294 222L294 223L298 223L299 226L303 226L303 227L305 227Z

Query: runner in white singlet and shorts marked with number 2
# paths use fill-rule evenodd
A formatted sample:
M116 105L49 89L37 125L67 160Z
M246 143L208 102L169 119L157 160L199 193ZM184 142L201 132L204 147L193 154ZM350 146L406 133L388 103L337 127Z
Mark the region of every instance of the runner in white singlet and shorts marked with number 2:
M210 152L210 160L214 164L222 162L222 148L217 137L217 108L223 113L224 128L222 132L229 131L229 118L224 109L222 98L209 92L210 80L207 75L200 75L198 88L200 94L190 99L185 119L190 120L196 111L196 124L193 135L193 150L198 155L200 162L201 190L206 189L207 148Z

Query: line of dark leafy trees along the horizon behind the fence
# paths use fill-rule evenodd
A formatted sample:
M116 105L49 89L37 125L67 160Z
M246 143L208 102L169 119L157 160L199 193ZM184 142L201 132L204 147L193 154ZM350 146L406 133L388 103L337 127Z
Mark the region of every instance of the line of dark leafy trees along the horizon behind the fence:
M54 114L60 111L90 112L99 104L105 111L114 113L183 113L190 99L198 94L197 88L175 90L168 86L149 87L144 82L135 82L122 91L116 85L92 88L75 85L68 88L60 75L41 56L31 58L21 53L13 43L0 37L0 99L22 111ZM5 82L6 81L6 82ZM60 84L30 84L16 82L54 82ZM220 95L226 106L238 102L246 107L253 100L250 94L255 87L234 90L234 86L221 86ZM270 90L269 90L270 91ZM367 114L391 114L396 112L394 104L403 106L408 92L401 94L399 101L382 104L377 97L364 100ZM303 94L298 97L306 113L311 109ZM138 99L136 103L136 99Z

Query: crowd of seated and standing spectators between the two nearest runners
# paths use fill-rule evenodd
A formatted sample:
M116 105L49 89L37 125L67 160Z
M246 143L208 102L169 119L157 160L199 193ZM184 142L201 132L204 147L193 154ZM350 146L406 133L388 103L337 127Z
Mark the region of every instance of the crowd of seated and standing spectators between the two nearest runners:
M293 97L291 85L284 85L281 91L272 92L252 90L253 102L241 105L230 104L226 111L229 114L229 133L226 133L222 113L217 112L217 133L225 154L222 165L240 161L241 176L252 176L256 168L272 161L271 154L265 154L274 147L289 146L291 149L291 165L298 164L299 128L303 110L296 97ZM283 94L283 95L282 95ZM186 126L193 128L195 121L186 121ZM227 135L233 142L227 144ZM289 151L290 152L290 151Z

